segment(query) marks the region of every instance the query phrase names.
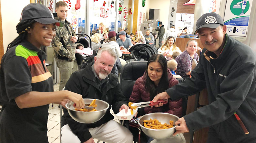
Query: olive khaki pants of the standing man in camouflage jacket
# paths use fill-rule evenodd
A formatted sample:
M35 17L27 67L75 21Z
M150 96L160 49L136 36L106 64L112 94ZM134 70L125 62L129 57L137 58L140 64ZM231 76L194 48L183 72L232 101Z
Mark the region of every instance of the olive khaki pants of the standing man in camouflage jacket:
M67 60L61 60L61 59L57 59L57 58L55 58L55 60L56 60L56 65L60 70L59 90L62 90L65 87L71 74L78 70L78 65L77 65L76 60L67 61Z

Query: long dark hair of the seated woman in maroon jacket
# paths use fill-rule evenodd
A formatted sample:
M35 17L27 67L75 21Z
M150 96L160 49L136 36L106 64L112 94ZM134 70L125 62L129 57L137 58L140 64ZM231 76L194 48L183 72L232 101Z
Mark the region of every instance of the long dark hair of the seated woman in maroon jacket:
M154 81L152 81L147 74L148 65L151 62L158 62L161 65L162 70L163 70L163 75L162 75L157 87L156 87ZM169 83L168 83L167 62L163 55L154 54L148 59L144 79L145 79L145 89L150 94L150 100L153 100L153 98L158 93L164 92L166 89L168 89Z

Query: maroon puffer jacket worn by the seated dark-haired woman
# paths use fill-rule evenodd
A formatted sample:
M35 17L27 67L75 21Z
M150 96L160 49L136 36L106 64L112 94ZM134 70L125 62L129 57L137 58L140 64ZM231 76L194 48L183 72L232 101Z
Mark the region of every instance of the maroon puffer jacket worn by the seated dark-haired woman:
M145 73L144 73L145 75ZM145 81L144 75L138 78L133 86L132 95L130 96L129 102L137 103L137 102L147 102L151 101L150 94L146 92L145 89ZM169 88L178 84L178 80L175 79L172 75L172 72L168 69L168 79L169 79ZM177 99L175 101L168 100L167 104L164 104L161 107L145 107L145 114L154 113L154 112L165 112L176 115L178 117L182 116L182 98Z

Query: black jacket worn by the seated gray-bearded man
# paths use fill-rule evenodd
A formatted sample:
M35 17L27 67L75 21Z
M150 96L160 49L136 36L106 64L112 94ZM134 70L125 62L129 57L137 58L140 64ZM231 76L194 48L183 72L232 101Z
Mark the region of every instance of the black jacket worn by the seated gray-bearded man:
M99 89L97 83L93 81L95 76L92 72L92 64L90 63L84 69L74 72L65 86L65 90L81 94L83 98L100 99L109 103L109 109L106 114L99 121L92 124L83 124L73 120L68 110L63 108L64 115L61 118L61 126L68 124L81 142L85 142L92 137L88 128L98 127L114 119L114 116L110 113L111 106L114 113L117 114L121 105L128 105L128 101L121 92L120 83L116 75L110 73L108 75L109 80L102 85L103 90Z

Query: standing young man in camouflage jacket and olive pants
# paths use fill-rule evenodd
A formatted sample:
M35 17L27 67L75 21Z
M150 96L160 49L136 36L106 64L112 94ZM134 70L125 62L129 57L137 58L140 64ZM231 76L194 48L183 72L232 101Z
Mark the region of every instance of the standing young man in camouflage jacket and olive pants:
M57 27L56 36L52 39L51 45L54 48L54 57L60 71L60 87L62 90L71 74L78 70L75 56L75 42L79 40L70 22L66 20L68 6L65 2L56 3L54 19L63 23L63 27Z

